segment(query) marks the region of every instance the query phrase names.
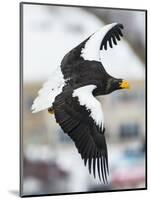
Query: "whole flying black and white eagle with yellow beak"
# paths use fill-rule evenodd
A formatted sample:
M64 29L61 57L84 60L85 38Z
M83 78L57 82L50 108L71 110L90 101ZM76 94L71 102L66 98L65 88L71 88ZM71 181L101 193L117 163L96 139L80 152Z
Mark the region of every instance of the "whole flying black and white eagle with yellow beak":
M105 121L97 96L129 89L128 81L110 75L101 51L121 40L123 25L107 24L70 50L33 101L32 112L48 110L73 140L89 173L108 183L109 166Z

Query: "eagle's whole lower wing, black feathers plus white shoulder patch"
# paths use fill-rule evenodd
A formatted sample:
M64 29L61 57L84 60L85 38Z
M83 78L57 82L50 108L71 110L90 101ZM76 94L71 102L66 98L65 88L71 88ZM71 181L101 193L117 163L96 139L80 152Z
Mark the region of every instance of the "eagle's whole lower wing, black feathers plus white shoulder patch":
M108 156L104 136L104 119L101 104L92 95L95 85L88 85L74 91L68 86L53 103L55 118L74 141L89 172L96 171L100 180L107 182Z

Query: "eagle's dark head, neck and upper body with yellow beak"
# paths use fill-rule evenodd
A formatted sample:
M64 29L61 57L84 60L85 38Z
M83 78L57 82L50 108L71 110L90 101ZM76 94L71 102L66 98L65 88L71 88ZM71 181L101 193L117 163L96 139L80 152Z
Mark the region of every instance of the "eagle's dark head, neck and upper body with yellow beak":
M101 62L84 61L74 69L74 76L70 79L74 89L86 85L95 85L94 96L106 95L119 89L129 89L128 81L114 78L105 70Z

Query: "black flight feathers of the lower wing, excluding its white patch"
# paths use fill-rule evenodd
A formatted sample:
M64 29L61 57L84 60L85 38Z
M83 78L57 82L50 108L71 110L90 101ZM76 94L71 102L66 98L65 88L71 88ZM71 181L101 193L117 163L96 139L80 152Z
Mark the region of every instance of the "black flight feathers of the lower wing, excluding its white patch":
M80 106L71 94L62 92L58 95L53 108L56 121L74 141L84 164L88 165L89 173L93 171L96 177L97 172L100 181L106 183L108 158L104 130L96 126L85 106Z

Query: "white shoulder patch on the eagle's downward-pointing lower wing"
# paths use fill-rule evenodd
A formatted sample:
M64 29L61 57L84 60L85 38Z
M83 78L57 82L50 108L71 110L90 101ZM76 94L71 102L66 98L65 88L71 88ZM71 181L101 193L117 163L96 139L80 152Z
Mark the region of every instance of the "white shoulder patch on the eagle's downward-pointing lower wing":
M96 125L104 127L104 116L101 103L93 96L92 91L96 88L95 85L88 85L74 90L72 96L78 97L81 106L86 106L90 110L90 116L95 121Z

